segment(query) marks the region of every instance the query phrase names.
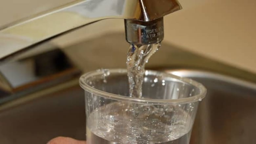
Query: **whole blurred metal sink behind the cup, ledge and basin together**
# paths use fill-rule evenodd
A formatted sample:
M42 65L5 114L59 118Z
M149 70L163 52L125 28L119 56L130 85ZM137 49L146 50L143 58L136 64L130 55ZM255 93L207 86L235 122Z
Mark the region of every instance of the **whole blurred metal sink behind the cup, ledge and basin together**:
M115 47L110 41L113 39L118 41ZM123 33L70 47L63 51L83 72L125 67L128 45ZM118 54L113 56L113 53ZM108 63L102 59L108 59ZM207 95L199 105L191 144L256 143L255 74L165 43L147 66L192 78L207 88ZM85 139L84 93L78 77L0 105L0 143L46 144L56 136Z

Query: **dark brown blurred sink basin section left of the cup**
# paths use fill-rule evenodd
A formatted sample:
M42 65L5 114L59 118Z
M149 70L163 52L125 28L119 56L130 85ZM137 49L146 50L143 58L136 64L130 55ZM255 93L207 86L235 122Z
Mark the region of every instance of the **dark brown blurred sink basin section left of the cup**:
M84 96L78 85L16 105L0 112L2 144L46 144L60 135L85 138Z

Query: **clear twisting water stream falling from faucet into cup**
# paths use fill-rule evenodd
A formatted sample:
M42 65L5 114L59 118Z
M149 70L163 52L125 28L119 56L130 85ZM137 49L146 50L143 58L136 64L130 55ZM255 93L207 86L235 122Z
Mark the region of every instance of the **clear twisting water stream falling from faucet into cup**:
M131 44L126 61L130 97L142 97L142 82L145 73L145 64L159 48L160 43L142 46Z

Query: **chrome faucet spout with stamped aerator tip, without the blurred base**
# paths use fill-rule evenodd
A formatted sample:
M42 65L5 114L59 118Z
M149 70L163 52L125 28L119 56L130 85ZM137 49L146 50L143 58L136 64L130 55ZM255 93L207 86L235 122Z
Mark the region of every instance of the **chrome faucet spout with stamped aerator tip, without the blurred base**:
M62 33L109 18L125 19L129 43L159 43L164 35L163 16L180 9L177 0L76 0L0 28L0 60Z

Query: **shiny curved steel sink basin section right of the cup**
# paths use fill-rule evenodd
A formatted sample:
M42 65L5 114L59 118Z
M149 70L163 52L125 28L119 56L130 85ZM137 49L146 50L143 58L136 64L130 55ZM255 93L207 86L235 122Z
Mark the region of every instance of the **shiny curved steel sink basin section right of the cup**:
M166 70L201 82L207 89L199 105L191 144L254 144L256 84L198 70Z

